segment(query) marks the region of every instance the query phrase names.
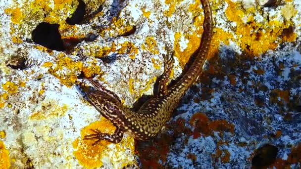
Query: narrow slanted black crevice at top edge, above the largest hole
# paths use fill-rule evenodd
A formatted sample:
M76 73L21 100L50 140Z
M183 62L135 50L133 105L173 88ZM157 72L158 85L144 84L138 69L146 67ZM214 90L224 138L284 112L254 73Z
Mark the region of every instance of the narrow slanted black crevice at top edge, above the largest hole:
M84 16L86 14L86 4L82 0L78 0L79 4L76 8L76 10L73 12L71 17L68 17L66 19L66 22L70 25L80 24Z

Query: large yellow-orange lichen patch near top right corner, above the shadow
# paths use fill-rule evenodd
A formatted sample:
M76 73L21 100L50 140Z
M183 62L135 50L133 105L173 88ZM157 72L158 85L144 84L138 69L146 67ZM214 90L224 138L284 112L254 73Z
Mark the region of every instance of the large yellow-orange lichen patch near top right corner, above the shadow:
M244 8L241 2L232 2L226 0L228 7L225 11L230 21L236 22L235 34L239 38L237 44L250 56L259 56L269 49L275 49L278 43L295 41L295 34L283 37L282 32L289 28L292 23L290 19L296 15L297 11L292 4L286 4L282 8L282 15L285 21L277 18L264 17L264 21L256 22L254 16L260 8L249 7ZM261 11L259 11L261 12ZM246 19L247 23L246 23Z

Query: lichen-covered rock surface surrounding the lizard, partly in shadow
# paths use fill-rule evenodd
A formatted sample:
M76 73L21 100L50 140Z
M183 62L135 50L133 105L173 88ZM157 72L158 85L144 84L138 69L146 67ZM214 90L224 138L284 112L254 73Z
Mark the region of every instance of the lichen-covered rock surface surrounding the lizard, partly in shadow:
M92 146L90 128L114 127L79 85L98 79L132 107L166 47L177 78L200 44L200 0L0 1L0 168L300 168L301 1L210 3L208 59L166 131Z

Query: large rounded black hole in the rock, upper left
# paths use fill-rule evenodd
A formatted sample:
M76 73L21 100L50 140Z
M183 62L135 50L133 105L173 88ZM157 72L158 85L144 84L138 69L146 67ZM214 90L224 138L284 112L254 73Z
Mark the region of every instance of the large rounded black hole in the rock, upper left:
M58 31L58 24L40 23L32 32L32 40L52 50L63 51L64 44Z

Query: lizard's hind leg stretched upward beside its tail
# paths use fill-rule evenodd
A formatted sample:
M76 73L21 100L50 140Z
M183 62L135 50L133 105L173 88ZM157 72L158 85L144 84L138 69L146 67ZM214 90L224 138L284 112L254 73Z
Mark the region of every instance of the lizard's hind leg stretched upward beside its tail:
M167 54L164 55L164 72L160 77L161 79L159 80L158 91L156 93L158 97L162 97L167 94L167 84L170 80L170 73L174 64L174 51L170 54L170 49L168 47L166 47L166 49Z

